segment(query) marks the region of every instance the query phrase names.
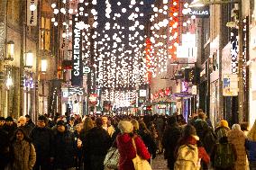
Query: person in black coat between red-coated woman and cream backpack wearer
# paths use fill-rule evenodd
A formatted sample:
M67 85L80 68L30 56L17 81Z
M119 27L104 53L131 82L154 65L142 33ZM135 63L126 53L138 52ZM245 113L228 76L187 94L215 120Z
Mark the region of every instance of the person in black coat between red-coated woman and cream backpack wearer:
M164 158L167 159L169 169L174 168L175 157L174 150L177 148L178 139L181 136L181 128L178 126L176 116L170 116L168 125L163 133L162 146L164 150Z

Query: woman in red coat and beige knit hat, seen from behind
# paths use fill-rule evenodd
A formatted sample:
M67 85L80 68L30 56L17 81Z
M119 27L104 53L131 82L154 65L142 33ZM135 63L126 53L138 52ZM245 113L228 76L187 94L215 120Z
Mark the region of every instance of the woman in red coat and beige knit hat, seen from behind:
M133 135L133 124L130 121L120 121L118 128L121 130L121 134L116 138L117 148L120 153L118 169L134 170L133 158L136 157L136 151L133 148L133 139L138 156L148 160L151 158L151 154L145 147L141 137Z

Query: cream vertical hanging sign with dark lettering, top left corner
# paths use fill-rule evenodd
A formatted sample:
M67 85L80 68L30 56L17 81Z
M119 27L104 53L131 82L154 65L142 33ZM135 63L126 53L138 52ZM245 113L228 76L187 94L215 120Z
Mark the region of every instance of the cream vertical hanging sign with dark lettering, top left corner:
M38 0L27 0L27 25L37 25L37 4Z

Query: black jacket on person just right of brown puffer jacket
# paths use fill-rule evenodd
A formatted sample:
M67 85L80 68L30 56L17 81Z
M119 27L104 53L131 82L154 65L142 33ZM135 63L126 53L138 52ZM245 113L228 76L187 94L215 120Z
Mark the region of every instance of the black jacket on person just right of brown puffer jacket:
M36 151L37 164L47 164L53 157L53 132L49 128L35 127L30 135Z

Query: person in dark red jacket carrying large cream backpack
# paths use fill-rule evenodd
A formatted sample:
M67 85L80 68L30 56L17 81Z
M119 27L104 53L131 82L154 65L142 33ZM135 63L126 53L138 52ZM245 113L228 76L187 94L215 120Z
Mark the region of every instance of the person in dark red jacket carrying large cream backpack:
M198 141L199 141L199 137L197 136L197 131L194 128L194 126L191 126L191 125L185 126L185 128L182 130L181 137L178 140L177 148L175 149L175 157L177 158L177 160L175 162L174 169L176 169L176 170L184 170L184 169L197 170L197 169L200 169L200 160L203 161L206 165L208 165L210 163L210 157L206 153L206 149L204 147L202 147ZM178 157L180 157L180 155L186 155L184 153L181 153L182 150L180 149L180 147L182 147L182 146L189 146L193 149L197 148L197 159L196 159L197 166L191 166L191 165L189 166L187 164L187 162L189 162L189 161L182 162L182 160L178 159ZM191 157L191 158L193 158L193 160L191 160L191 161L194 162L195 157Z

